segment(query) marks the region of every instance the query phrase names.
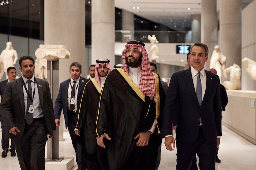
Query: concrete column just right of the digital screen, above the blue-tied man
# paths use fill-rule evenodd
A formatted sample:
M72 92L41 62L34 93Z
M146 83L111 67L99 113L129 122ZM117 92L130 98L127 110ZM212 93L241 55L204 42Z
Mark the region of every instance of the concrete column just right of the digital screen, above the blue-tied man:
M202 0L201 5L201 42L206 44L209 49L208 62L204 64L204 68L208 70L212 51L217 45L217 2L216 0Z

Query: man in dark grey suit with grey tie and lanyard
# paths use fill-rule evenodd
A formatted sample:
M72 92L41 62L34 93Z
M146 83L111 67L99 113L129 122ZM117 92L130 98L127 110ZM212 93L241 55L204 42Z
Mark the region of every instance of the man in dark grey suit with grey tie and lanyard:
M20 58L22 77L6 84L1 105L21 170L45 168L47 134L56 129L49 84L33 76L34 63L30 56Z

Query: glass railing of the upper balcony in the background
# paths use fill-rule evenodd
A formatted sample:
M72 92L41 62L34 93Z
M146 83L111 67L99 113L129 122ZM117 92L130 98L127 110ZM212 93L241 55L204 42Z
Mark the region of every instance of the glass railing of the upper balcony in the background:
M148 35L155 35L159 43L191 43L191 31L128 31L116 30L116 42L138 40L150 42Z

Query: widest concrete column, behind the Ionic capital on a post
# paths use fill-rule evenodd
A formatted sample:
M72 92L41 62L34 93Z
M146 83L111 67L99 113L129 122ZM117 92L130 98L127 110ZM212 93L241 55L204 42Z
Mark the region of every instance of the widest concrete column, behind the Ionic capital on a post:
M68 70L72 62L81 63L82 70L85 68L85 1L44 0L44 43L64 45L70 52L69 59L59 60L59 83L70 78ZM59 89L59 84L56 86ZM52 96L54 100L56 97ZM63 128L64 121L59 128L62 140Z

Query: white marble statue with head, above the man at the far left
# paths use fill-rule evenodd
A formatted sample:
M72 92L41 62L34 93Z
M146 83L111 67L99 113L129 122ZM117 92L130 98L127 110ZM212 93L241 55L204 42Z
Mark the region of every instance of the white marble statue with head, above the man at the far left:
M3 70L5 72L6 79L8 79L6 74L8 67L14 67L14 64L18 60L17 51L13 49L11 41L6 42L6 48L0 54L0 60L3 62Z

